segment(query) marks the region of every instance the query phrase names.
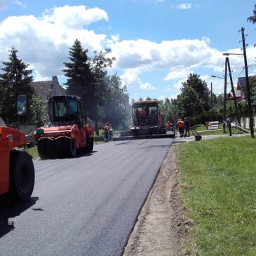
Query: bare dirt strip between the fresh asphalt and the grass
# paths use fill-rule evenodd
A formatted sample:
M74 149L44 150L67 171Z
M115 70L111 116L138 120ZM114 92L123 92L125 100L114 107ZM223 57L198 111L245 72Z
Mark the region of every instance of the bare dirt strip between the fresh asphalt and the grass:
M190 222L184 217L178 194L176 147L170 147L163 161L123 256L184 255L182 250Z

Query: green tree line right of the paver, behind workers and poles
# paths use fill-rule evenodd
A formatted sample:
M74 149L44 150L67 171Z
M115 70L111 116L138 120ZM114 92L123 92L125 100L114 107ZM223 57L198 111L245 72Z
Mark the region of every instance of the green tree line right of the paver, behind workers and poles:
M252 99L252 112L256 113L256 77L250 76L250 90ZM246 88L245 88L246 90ZM228 92L229 93L229 92ZM212 100L213 99L213 100ZM139 100L142 100L141 98ZM157 100L147 97L145 100ZM206 81L198 74L189 74L187 81L182 83L180 94L175 99L158 100L159 109L163 119L167 123L176 123L177 119L187 117L191 125L203 124L207 121L223 122L224 93L215 95L208 89ZM248 116L248 101L241 99L237 101L238 115L235 111L234 100L227 100L226 114L235 120Z

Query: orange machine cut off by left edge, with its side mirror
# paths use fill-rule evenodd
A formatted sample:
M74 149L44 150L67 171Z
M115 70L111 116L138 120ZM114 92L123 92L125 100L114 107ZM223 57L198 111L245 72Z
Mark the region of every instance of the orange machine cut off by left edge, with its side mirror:
M18 97L18 114L26 112L26 96ZM25 134L6 127L0 118L0 194L12 201L25 201L34 189L32 157L18 147L25 147Z

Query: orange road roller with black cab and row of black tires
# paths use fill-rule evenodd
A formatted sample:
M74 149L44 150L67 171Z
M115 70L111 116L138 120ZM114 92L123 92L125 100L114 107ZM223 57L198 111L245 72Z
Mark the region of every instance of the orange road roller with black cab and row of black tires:
M50 122L33 135L41 159L74 158L78 150L93 151L94 131L83 123L80 97L50 97L48 114Z

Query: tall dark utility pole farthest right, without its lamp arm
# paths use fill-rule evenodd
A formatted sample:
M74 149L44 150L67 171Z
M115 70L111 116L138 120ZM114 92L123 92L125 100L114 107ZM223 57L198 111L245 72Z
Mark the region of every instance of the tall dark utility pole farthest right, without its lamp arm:
M245 62L245 78L246 78L246 87L247 87L247 100L248 100L248 114L249 114L249 121L250 121L250 135L254 137L254 130L253 130L253 121L252 121L252 104L250 102L250 84L249 84L249 77L248 77L248 65L247 65L247 57L246 57L246 49L245 49L245 34L244 28L241 28L242 33L242 41L243 41L243 59Z

